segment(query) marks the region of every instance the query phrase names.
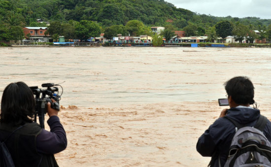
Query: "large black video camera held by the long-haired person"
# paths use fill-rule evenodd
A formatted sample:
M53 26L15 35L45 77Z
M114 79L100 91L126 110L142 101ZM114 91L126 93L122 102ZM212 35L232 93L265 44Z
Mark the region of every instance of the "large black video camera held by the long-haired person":
M45 83L41 85L41 87L47 89L39 89L37 86L30 87L36 100L35 105L36 112L34 115L34 121L36 122L36 116L38 116L39 125L43 129L44 129L44 115L47 113L47 103L50 102L52 108L58 111L60 110L59 100L61 100L63 88L61 95L59 95L59 89L58 87L55 86L60 86L62 88L61 85L55 85L53 83ZM53 102L51 99L55 100L56 102Z

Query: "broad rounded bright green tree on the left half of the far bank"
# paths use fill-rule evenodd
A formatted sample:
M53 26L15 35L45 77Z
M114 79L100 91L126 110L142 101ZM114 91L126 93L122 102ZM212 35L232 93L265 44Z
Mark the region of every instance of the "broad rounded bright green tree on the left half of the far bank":
M79 24L76 24L75 26L75 35L82 40L100 36L100 34L100 27L93 21L81 20Z

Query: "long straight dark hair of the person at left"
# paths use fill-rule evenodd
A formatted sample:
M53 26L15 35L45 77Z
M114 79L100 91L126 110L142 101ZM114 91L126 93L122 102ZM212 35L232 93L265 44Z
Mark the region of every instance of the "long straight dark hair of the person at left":
M27 84L16 82L6 86L1 100L1 123L23 125L26 122L33 122L34 111L34 95Z

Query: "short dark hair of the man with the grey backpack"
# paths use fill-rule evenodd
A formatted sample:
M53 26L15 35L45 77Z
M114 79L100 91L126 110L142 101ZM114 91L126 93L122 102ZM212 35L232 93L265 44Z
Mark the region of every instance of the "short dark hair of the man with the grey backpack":
M228 96L237 104L253 104L254 86L245 76L237 76L224 83Z

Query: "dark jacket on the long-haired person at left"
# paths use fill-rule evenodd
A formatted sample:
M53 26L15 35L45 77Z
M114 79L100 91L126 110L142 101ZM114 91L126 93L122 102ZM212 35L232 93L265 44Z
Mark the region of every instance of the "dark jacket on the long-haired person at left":
M5 144L15 167L58 167L53 154L67 147L66 133L57 116L50 117L47 123L51 132L37 123L26 123L7 139ZM0 141L17 128L0 124Z

